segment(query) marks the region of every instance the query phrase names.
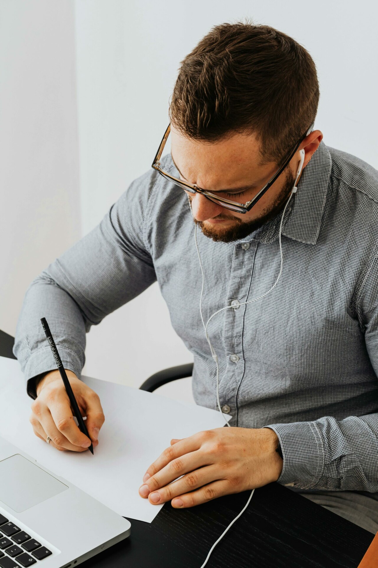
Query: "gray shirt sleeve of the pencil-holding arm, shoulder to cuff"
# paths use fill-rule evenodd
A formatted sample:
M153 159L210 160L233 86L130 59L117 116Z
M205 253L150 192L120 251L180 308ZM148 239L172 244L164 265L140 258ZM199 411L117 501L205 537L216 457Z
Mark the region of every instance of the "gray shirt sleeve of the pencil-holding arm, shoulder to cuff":
M26 388L36 398L37 375L56 369L40 319L45 317L65 369L79 378L86 333L155 280L146 246L154 176L135 179L101 222L56 258L29 285L18 318L13 353Z

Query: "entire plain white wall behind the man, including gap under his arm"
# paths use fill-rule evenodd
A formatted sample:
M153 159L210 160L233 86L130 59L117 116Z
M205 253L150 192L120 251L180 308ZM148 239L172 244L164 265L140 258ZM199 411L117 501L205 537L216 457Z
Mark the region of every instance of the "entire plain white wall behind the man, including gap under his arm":
M11 242L1 249L0 297L9 298L0 304L1 329L14 335L31 279L95 227L150 168L186 53L214 24L243 16L277 27L308 49L321 86L316 128L326 144L378 168L376 3L0 3L0 231L2 242ZM157 285L91 328L86 357L84 374L134 386L191 360ZM183 382L163 389L190 399Z

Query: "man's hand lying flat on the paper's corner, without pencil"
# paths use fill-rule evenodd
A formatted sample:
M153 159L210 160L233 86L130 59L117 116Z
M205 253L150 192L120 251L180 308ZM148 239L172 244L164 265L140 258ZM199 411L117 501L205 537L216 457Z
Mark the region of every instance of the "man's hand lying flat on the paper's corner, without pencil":
M270 428L215 428L171 440L148 467L139 495L152 504L172 499L173 507L184 508L262 487L281 475L277 446Z

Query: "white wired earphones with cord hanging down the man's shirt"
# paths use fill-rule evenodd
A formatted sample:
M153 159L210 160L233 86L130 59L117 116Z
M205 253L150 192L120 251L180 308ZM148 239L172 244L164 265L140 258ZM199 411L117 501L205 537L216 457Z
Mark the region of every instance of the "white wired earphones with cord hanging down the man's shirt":
M283 218L284 218L284 214L286 212L286 208L288 206L288 203L290 202L291 196L296 193L298 187L297 187L297 182L298 182L298 178L300 176L301 170L303 168L303 163L304 163L304 156L305 156L305 152L304 150L300 150L299 151L300 154L300 161L299 161L299 165L298 165L298 170L296 172L296 177L295 177L295 182L294 182L294 186L292 187L292 190L290 191L290 195L289 198L286 202L286 205L283 208L283 212L282 212L282 217L281 217L281 223L279 224L279 234L278 234L278 240L279 240L279 252L281 255L281 265L280 265L280 269L279 269L279 273L278 273L278 277L275 280L273 286L271 286L271 288L265 292L264 294L261 294L261 296L258 296L257 298L252 298L251 300L248 300L247 302L239 302L239 306L243 306L243 304L249 304L252 302L257 302L257 300L260 300L261 298L264 298L264 296L266 296L267 294L270 294L270 292L274 289L274 287L277 285L279 279L281 278L281 274L282 274L282 269L283 269L283 254L282 254L282 240L281 240L281 233L282 233L282 223L283 223ZM189 206L190 206L190 212L192 213L193 219L194 219L194 215L193 215L193 211L192 211L192 202L189 199L189 195L188 195L188 201L189 201ZM194 219L195 220L195 219ZM198 261L199 261L199 266L201 268L201 274L202 274L202 286L201 286L201 295L199 296L199 314L201 315L201 321L202 321L202 325L203 325L203 329L205 330L205 336L206 336L206 341L209 344L210 347L210 352L211 352L211 356L213 357L215 364L216 364L216 402L218 404L218 410L220 412L220 414L222 414L223 416L223 412L222 412L222 408L220 408L220 402L219 402L219 365L218 365L218 356L215 353L214 347L213 345L211 345L211 341L209 338L209 334L207 333L207 326L210 323L210 320L214 318L214 316L216 314L219 314L220 312L223 312L223 310L230 310L230 308L233 308L233 306L225 306L224 308L220 308L220 310L217 310L216 312L214 312L213 315L210 316L210 318L207 320L206 324L205 324L205 320L203 320L203 315L202 315L202 296L203 296L203 289L205 287L205 274L203 273L203 267L202 267L202 262L201 262L201 257L199 256L199 250L198 250L198 243L197 243L197 223L194 223L194 242L196 243L196 249L197 249L197 255L198 255ZM239 307L238 306L238 307ZM224 416L223 416L224 417ZM227 426L230 426L230 424L228 424L227 420L224 419L224 421L226 422ZM216 542L214 542L213 546L211 547L211 549L209 550L209 554L207 554L207 557L205 559L205 562L203 562L201 568L203 568L207 561L210 558L210 554L213 552L215 546L218 544L218 542L223 538L223 536L226 534L226 532L228 531L228 529L230 529L230 527L232 527L233 523L235 523L235 521L237 519L239 519L239 517L244 513L245 509L247 509L250 500L252 499L252 495L253 495L254 489L252 490L251 494L249 495L248 501L245 504L245 506L243 507L243 509L240 511L239 515L237 515L235 517L235 519L232 520L232 522L228 525L228 527L226 528L226 530L220 535L220 537L218 538L218 540Z

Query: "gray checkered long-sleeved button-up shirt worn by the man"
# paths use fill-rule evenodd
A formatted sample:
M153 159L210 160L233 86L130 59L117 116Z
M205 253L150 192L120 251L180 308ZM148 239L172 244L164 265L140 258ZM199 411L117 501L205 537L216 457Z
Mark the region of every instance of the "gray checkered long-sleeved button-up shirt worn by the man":
M179 177L170 154L161 162ZM198 231L206 320L273 285L280 220L232 243ZM33 377L56 369L42 315L63 365L80 378L91 325L157 279L173 328L194 356L194 398L217 408L193 231L184 191L150 169L43 270L26 291L14 345L32 398ZM279 483L296 491L378 491L378 173L321 143L282 232L283 273L274 290L209 324L220 404L230 407L231 425L277 433Z

